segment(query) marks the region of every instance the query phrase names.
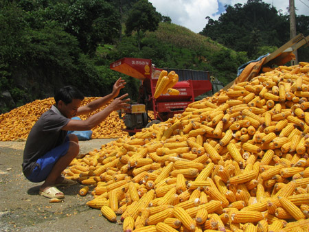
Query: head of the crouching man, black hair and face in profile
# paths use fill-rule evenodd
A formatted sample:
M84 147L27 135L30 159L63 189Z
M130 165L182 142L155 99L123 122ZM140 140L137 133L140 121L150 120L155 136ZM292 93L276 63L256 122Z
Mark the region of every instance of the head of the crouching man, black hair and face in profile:
M65 86L58 90L54 99L62 115L71 118L76 115L84 95L73 86Z

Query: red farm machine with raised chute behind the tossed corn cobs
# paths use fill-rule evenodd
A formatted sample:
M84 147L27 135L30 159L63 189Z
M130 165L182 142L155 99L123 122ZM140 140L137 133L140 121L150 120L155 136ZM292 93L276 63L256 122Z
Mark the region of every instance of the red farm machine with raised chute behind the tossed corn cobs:
M141 58L122 58L110 65L110 69L119 71L133 78L141 80L139 89L139 104L145 104L147 111L153 111L155 119L165 121L176 113L183 113L194 98L211 91L209 71L195 71L187 69L165 69L175 71L179 75L173 89L179 90L179 95L161 94L157 99L153 97L157 80L163 69L152 65L152 60Z

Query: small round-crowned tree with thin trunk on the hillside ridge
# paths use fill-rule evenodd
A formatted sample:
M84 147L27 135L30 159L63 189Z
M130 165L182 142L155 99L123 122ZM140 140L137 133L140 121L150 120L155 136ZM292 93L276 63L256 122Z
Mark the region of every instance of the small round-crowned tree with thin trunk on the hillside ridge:
M148 0L139 0L133 5L126 20L126 34L137 32L137 43L141 49L141 34L146 31L155 32L159 26L160 14Z

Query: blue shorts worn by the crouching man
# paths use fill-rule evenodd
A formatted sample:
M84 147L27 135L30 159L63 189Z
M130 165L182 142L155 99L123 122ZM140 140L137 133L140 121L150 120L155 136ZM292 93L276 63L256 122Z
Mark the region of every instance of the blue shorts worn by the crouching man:
M54 164L60 157L67 154L67 150L69 150L69 137L65 137L64 143L39 158L36 161L36 167L34 167L32 174L27 179L34 183L45 181Z

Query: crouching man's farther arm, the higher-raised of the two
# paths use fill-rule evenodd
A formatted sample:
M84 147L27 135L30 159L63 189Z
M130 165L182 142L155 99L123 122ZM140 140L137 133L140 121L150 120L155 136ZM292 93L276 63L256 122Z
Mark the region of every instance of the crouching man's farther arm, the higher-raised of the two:
M78 112L76 113L76 116L91 113L92 111L95 111L98 108L104 106L105 104L113 100L115 97L117 97L117 95L119 95L120 89L123 89L125 84L126 84L125 80L122 80L122 78L119 78L113 85L112 93L104 97L100 97L99 99L94 100L92 102L89 102L88 104L84 106L81 106L80 108L78 108Z

